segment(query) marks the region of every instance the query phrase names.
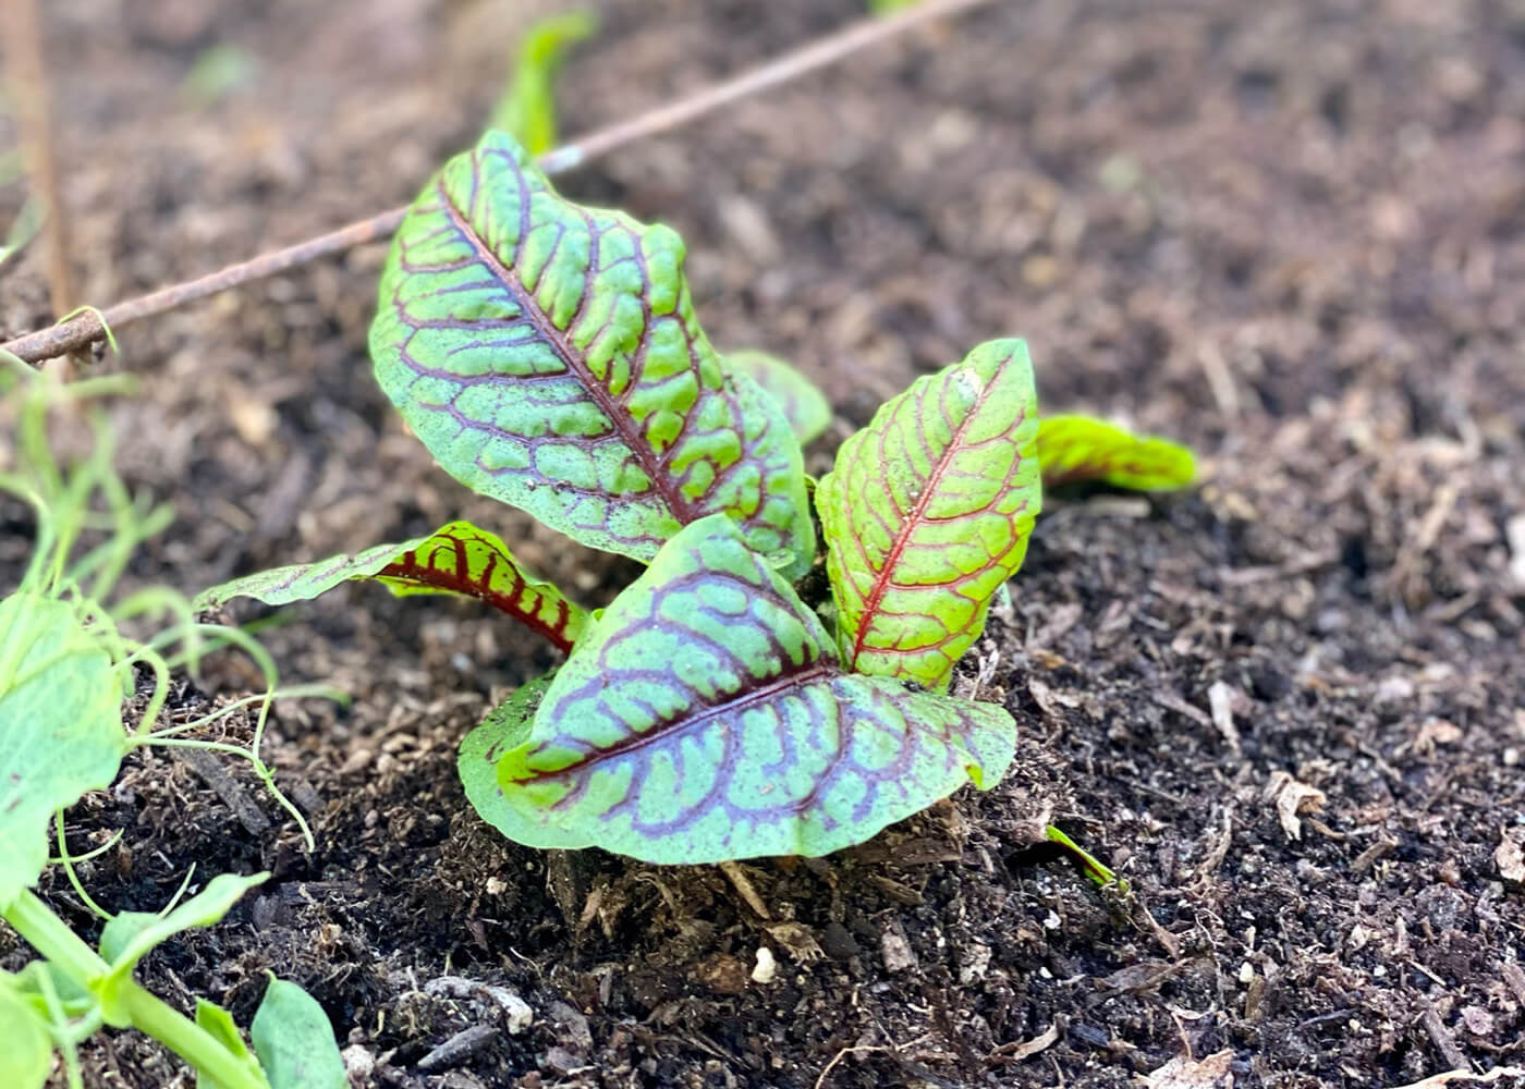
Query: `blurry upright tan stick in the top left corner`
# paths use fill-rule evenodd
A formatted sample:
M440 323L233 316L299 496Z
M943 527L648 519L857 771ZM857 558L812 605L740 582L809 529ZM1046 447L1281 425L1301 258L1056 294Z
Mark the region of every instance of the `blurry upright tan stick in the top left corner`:
M9 0L5 9L6 63L21 128L21 156L32 189L43 201L43 247L47 259L47 294L53 314L75 307L69 270L69 217L59 200L58 159L53 154L47 66L43 61L43 21L37 0Z

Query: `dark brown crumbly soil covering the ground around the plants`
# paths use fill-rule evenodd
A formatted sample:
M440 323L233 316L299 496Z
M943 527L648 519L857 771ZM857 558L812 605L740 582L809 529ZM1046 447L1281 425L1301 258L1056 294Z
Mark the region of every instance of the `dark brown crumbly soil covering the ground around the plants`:
M84 297L409 198L471 142L528 8L49 3ZM564 73L566 130L859 11L612 3ZM215 43L256 79L192 108L178 87ZM271 869L142 976L242 1023L267 969L297 981L357 1084L1135 1086L1190 1057L1153 1084L1369 1087L1525 1066L1525 892L1496 857L1525 839L1522 110L1525 11L1502 0L1013 0L566 178L679 227L712 337L819 378L831 441L1020 334L1048 409L1180 436L1206 479L1051 499L976 651L999 654L1016 770L862 848L744 865L767 918L718 869L503 842L454 746L554 654L360 589L264 633L288 680L354 694L287 705L268 738L316 854L246 769L214 782L154 753L73 813L75 846L125 828L87 886L152 909L192 863ZM122 468L180 509L134 577L194 592L465 516L607 601L628 567L465 494L390 413L364 352L381 256L128 331L104 365L142 377L111 413ZM3 329L46 320L41 267L3 273ZM1032 848L1045 819L1135 898ZM47 895L90 929L61 880ZM532 1025L511 1034L488 988ZM133 1034L85 1060L96 1086L189 1084Z

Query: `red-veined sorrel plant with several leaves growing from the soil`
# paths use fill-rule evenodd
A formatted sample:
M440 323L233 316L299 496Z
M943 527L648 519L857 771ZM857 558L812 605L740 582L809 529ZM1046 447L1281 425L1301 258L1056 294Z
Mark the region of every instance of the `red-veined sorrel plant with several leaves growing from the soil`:
M467 795L506 836L814 856L1000 779L1011 715L946 691L1042 503L1020 340L918 380L842 445L814 496L830 619L793 586L817 554L801 441L830 407L779 360L711 346L668 227L563 200L490 133L400 229L371 354L442 468L645 573L590 615L456 522L200 602L375 578L482 598L567 650L462 744Z

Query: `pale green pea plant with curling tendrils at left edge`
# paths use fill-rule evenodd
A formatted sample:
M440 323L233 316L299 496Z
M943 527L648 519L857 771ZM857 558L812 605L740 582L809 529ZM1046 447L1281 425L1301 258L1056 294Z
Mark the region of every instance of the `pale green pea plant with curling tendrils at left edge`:
M313 1077L282 1077L265 1060L259 1017L252 1057L229 1014L198 1002L195 1020L172 1010L133 979L137 962L168 938L195 926L210 926L233 903L268 877L214 877L195 897L162 915L107 915L73 872L78 859L63 842L63 810L85 792L110 787L122 758L136 746L195 746L249 760L274 792L259 760L259 732L278 695L274 665L242 631L197 624L189 602L163 587L113 598L133 549L169 520L168 508L134 500L111 468L110 433L95 421L95 450L79 465L63 468L47 442L50 407L78 407L98 394L119 390L120 381L93 380L59 386L17 363L17 459L0 471L0 490L29 503L37 516L37 540L20 586L0 599L0 918L41 956L21 972L0 972L0 1075L20 1089L43 1086L55 1052L63 1054L67 1081L81 1084L78 1045L110 1028L139 1028L186 1058L204 1084L221 1089L337 1089L343 1063L328 1017L313 999L305 1005L284 994L261 1005L267 1026L281 1022L281 1036L328 1039L326 1051L310 1055ZM0 381L5 380L0 372ZM104 508L104 509L102 509ZM82 535L104 532L101 544L81 548ZM82 552L82 554L81 554ZM107 604L110 602L110 604ZM130 618L165 615L171 622L143 641L124 634ZM250 653L267 674L265 694L238 700L197 721L156 729L177 665L195 668L207 650L232 645ZM154 677L142 721L128 732L122 705L133 699L137 670ZM310 694L287 689L279 694ZM259 705L259 726L249 749L200 741L183 734L227 714ZM276 798L297 813L279 792ZM47 856L49 822L58 821L59 856L81 900L108 921L92 949L35 894ZM305 830L305 824L302 824ZM287 985L290 987L290 985ZM270 1008L271 1013L265 1013ZM236 1043L236 1046L235 1046ZM331 1052L331 1054L329 1054ZM270 1051L274 1055L274 1051ZM264 1063L264 1065L261 1065ZM337 1080L332 1074L337 1071ZM322 1075L326 1072L326 1075Z

